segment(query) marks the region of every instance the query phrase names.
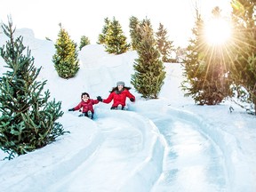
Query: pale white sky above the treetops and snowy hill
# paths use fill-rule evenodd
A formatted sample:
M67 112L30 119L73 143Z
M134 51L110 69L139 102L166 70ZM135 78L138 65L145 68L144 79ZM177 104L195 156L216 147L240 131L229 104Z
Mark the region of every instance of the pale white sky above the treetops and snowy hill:
M212 7L219 5L227 12L229 0L130 0L120 3L118 0L1 0L0 21L7 22L12 15L17 28L32 28L40 39L49 37L56 41L60 31L59 23L68 31L68 35L77 43L81 36L87 36L91 44L96 44L104 26L104 19L113 17L121 24L124 35L130 39L129 19L148 18L157 30L159 23L168 29L168 36L176 46L188 42L194 25L195 6L202 14L211 13ZM197 2L197 3L196 3Z

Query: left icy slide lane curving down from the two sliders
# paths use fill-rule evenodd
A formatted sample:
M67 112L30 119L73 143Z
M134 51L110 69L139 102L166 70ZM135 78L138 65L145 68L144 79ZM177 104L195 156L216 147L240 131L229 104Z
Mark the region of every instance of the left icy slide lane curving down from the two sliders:
M156 160L161 162L156 161L156 164L148 165L148 158L155 158L152 148L160 149L159 155L164 156L159 132L148 119L136 116L139 115L108 109L107 116L96 119L97 129L103 138L98 149L67 177L48 187L47 191L132 191L133 179L138 176L138 172L143 175L144 167L147 167L146 172L152 166L162 167L163 158L159 156ZM154 180L157 180L160 172L161 170L156 172ZM148 191L148 188L143 186L141 183L140 191ZM139 191L138 188L135 190Z

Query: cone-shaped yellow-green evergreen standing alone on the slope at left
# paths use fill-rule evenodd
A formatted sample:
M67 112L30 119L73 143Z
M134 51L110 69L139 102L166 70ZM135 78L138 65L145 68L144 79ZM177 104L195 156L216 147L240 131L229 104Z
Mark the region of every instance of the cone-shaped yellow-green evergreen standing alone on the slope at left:
M68 32L61 27L56 44L54 45L56 52L52 56L52 62L62 78L68 79L76 76L79 70L79 60L76 44L68 36Z

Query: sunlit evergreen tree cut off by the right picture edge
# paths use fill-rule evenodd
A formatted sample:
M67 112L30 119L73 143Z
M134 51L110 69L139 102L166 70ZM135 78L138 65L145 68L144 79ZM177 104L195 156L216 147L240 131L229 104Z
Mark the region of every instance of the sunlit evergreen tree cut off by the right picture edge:
M256 2L233 0L234 63L230 74L240 106L256 115ZM249 104L249 106L248 106Z

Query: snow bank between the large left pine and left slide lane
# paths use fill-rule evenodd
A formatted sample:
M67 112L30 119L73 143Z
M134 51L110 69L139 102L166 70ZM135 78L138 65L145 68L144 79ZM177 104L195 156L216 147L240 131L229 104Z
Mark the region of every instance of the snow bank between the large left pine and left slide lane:
M1 190L43 192L47 186L62 180L69 172L75 170L76 166L92 156L102 141L96 124L86 118L72 115L65 117L72 120L69 123L62 122L70 134L61 136L59 140L44 148L0 165ZM72 123L75 121L76 124Z

